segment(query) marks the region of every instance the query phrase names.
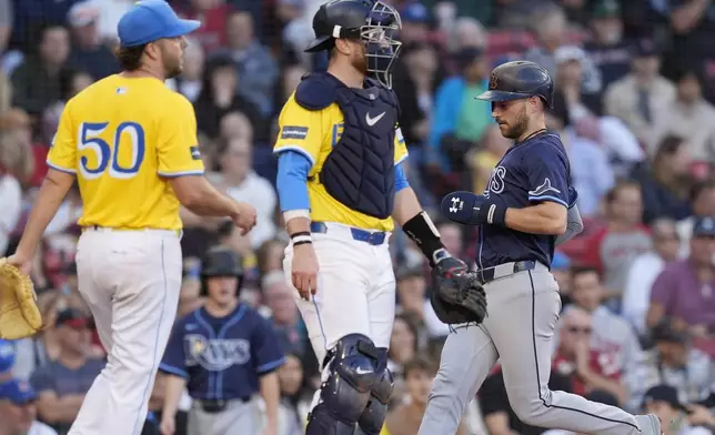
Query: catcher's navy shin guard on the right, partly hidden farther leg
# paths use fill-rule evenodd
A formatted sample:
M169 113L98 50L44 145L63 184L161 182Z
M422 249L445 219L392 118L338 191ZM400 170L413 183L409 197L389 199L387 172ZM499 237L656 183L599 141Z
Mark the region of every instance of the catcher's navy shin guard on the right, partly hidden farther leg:
M392 373L387 370L387 350L379 348L380 357L375 366L379 378L373 385L367 406L362 412L358 424L359 434L379 435L387 416L387 403L394 390Z

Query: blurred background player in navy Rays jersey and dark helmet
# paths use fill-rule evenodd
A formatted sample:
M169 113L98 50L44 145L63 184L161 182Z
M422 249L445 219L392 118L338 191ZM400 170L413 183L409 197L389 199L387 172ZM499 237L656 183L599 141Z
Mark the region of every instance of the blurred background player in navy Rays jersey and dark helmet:
M238 301L239 256L209 252L202 265L205 305L180 318L159 367L167 376L162 435L173 435L184 388L191 396L189 435L261 434L256 394L265 402L264 435L275 435L285 361L270 322Z

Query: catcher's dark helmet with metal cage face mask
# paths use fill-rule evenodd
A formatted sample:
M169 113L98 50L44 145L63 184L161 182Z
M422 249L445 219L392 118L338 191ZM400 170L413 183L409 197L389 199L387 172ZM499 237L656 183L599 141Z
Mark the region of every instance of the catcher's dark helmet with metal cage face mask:
M401 29L400 13L380 0L332 0L315 12L315 40L305 51L330 50L339 38L362 41L365 44L367 72L391 88L390 68L402 45L397 40Z

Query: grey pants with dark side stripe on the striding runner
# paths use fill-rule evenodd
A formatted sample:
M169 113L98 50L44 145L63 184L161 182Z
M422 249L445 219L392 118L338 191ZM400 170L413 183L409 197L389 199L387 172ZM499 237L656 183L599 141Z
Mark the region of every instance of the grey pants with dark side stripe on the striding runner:
M636 418L613 406L548 390L558 285L538 264L485 285L489 316L456 325L442 350L419 435L453 435L466 406L501 360L510 404L530 425L597 435L634 435Z

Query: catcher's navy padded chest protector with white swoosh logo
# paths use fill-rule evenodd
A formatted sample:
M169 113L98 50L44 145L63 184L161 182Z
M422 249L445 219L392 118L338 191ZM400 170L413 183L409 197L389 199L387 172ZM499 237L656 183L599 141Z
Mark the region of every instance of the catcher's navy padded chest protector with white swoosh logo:
M301 88L304 92L308 87L326 92L325 101L338 103L344 117L342 136L323 163L320 182L331 196L351 210L377 219L389 218L395 190L399 107L394 92L371 79L365 81L365 89L351 89L331 74L311 74L296 91L301 105L300 97L310 98L301 94Z

